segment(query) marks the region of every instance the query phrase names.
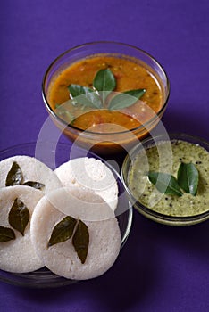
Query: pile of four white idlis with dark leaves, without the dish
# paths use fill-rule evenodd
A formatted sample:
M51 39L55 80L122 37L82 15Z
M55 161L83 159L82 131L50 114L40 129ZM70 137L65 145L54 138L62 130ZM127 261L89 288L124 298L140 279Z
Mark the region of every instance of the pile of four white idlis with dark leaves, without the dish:
M32 187L31 187L32 186ZM56 170L29 156L0 162L0 268L85 280L113 266L121 248L118 185L101 160Z

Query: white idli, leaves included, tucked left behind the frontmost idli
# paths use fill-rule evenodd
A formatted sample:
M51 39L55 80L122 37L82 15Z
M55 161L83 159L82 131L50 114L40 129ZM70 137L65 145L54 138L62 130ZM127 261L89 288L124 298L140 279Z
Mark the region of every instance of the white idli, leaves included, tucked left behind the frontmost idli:
M30 239L30 220L43 193L29 186L0 189L0 268L26 273L43 267Z

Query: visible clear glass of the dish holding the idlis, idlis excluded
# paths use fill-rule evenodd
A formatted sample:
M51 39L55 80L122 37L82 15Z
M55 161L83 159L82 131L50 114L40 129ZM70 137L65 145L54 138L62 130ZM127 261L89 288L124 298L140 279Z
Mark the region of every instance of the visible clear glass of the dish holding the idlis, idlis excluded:
M54 148L55 146L55 148ZM38 159L46 163L46 165L52 169L57 168L63 162L68 161L71 153L71 158L77 157L94 157L100 159L92 152L87 152L78 146L73 146L73 152L71 152L71 144L63 143L29 143L16 145L0 152L0 160L4 160L15 155L27 155L34 157L39 156ZM102 160L104 161L104 160ZM119 226L121 229L121 248L124 246L129 234L132 223L132 207L130 201L122 196L124 193L124 187L121 183L120 175L114 170L108 163L106 165L111 168L113 175L117 180L119 187L119 204L118 209L121 209L122 213L117 216ZM120 256L119 256L120 257ZM43 267L37 271L30 273L15 274L0 270L0 281L5 283L12 283L14 285L31 287L31 288L52 288L63 285L75 283L77 281L63 278L58 275L54 275L46 267Z

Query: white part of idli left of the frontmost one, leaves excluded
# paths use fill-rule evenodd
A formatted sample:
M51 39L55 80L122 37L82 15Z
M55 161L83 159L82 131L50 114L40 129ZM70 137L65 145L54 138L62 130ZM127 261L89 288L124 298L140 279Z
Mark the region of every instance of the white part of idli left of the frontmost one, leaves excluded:
M13 229L15 239L0 242L0 268L4 271L25 273L43 267L30 239L30 220L38 201L43 193L29 186L15 185L0 189L0 226L13 227L9 224L8 216L13 202L18 198L29 209L29 223L24 236Z

